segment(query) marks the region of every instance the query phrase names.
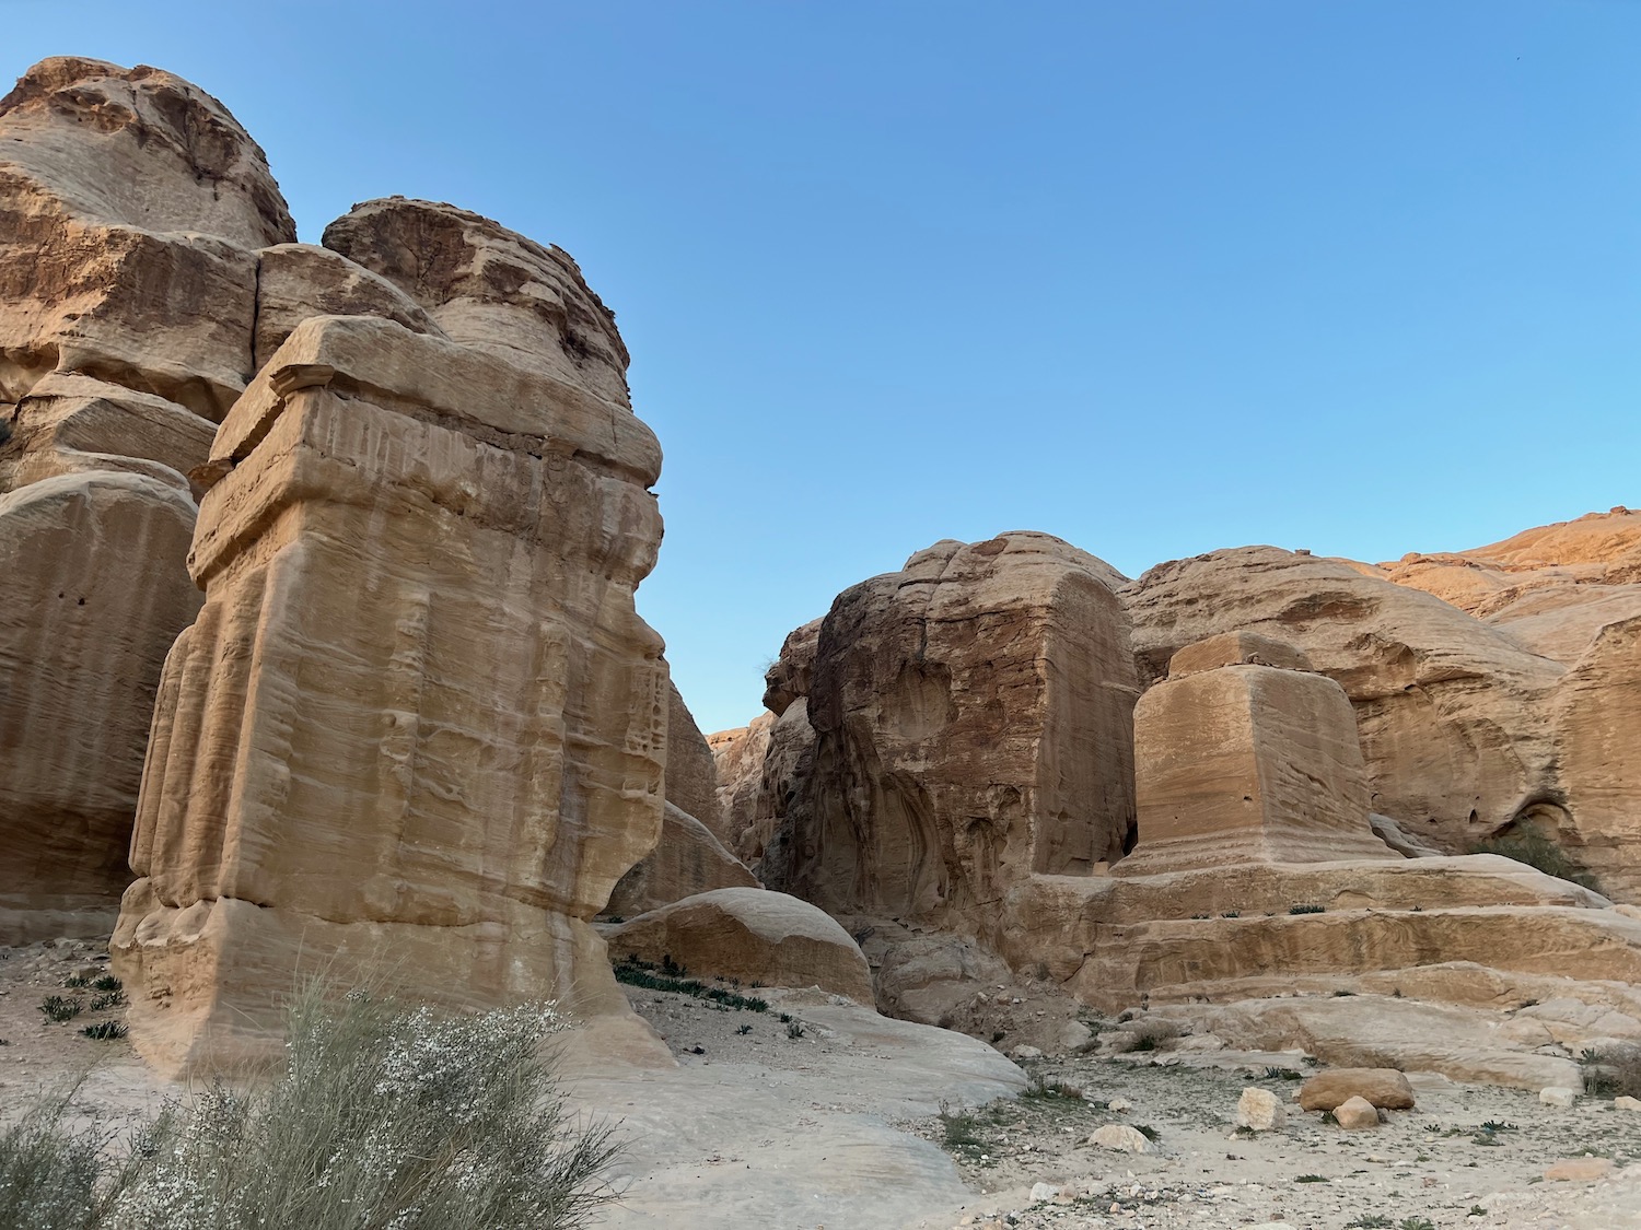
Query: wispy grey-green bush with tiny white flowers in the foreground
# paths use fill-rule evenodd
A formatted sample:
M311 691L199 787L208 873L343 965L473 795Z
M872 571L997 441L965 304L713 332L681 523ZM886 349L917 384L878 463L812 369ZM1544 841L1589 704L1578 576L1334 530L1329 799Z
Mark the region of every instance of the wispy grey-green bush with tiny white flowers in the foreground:
M542 1053L563 1028L551 1004L438 1015L366 992L338 1004L310 987L290 1009L279 1079L167 1104L117 1173L98 1174L97 1141L67 1133L59 1107L57 1145L44 1151L61 1178L25 1169L72 1189L64 1219L20 1204L33 1220L5 1220L0 1187L0 1230L584 1225L612 1196L601 1174L617 1146L609 1128L566 1117ZM0 1184L15 1153L7 1141Z

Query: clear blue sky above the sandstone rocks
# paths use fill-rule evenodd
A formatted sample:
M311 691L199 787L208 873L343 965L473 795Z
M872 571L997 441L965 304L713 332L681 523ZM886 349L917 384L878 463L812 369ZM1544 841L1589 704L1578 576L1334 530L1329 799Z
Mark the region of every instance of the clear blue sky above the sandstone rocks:
M0 0L8 74L220 97L304 239L558 243L661 438L638 594L704 730L940 538L1137 574L1641 503L1636 0Z

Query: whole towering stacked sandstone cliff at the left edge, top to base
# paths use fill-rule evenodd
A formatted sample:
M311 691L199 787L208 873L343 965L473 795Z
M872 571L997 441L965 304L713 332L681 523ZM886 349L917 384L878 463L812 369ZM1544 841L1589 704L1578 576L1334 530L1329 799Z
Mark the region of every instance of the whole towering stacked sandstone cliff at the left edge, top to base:
M253 371L263 151L158 69L0 100L0 941L113 920L166 649L199 608L184 472Z

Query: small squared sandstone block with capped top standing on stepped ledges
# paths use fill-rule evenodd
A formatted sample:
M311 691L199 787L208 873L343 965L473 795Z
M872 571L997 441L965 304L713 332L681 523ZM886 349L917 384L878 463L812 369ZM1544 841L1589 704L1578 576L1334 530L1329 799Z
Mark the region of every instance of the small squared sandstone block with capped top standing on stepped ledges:
M1226 640L1226 638L1216 638ZM1273 658L1296 659L1272 645ZM1195 669L1188 646L1134 708L1139 848L1116 874L1227 863L1400 858L1367 820L1355 715L1332 679L1275 666Z

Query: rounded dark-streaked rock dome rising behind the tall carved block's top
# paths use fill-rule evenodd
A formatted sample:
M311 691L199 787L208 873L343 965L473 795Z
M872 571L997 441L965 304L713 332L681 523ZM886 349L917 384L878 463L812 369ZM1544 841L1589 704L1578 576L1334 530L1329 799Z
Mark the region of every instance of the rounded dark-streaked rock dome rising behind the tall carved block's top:
M455 341L632 407L615 313L565 249L404 197L354 205L325 246L397 285Z

